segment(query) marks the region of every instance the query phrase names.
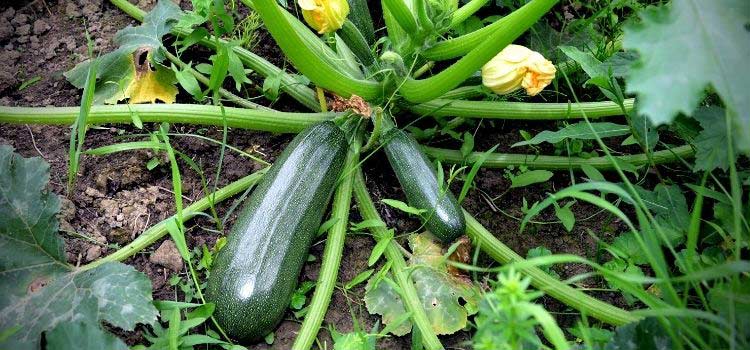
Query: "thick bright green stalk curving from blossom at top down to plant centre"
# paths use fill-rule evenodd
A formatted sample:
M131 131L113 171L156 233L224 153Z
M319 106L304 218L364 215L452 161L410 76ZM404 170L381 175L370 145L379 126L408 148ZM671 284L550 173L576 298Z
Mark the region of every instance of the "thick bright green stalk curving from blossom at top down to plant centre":
M382 86L373 80L354 79L329 64L318 54L320 47L312 45L295 30L275 0L254 0L255 10L263 23L294 66L320 87L341 96L358 95L373 100L382 95Z

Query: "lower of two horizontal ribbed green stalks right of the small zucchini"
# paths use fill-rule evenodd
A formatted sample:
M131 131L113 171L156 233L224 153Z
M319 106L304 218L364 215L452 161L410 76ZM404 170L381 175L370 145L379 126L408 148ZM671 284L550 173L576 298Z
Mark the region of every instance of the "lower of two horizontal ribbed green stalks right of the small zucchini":
M484 154L483 152L472 152L468 157L464 158L461 151L435 147L424 147L424 152L430 158L455 164L462 164L464 162L468 164L474 163ZM677 162L681 158L690 158L694 154L695 151L693 151L693 148L689 145L685 145L654 152L652 153L652 159L655 164L664 164ZM617 156L614 158L635 166L649 164L648 157L645 154ZM615 169L615 164L613 164L607 157L578 158L543 156L536 154L492 153L485 159L484 163L482 163L483 168L506 168L511 165L525 165L530 169L548 170L579 170L583 165L589 165L599 170Z

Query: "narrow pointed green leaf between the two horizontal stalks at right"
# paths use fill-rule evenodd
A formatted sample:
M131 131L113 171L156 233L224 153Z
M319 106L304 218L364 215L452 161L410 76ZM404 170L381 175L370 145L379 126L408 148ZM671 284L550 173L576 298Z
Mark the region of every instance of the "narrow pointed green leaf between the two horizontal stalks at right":
M591 123L591 128L596 131L596 134L600 138L623 136L630 134L630 127L627 125L620 125L615 123L603 122L603 123ZM538 145L542 142L549 142L552 144L564 141L564 140L594 140L596 136L591 131L586 122L578 122L570 124L558 131L545 130L538 133L531 140L516 142L511 147L526 146L526 145Z

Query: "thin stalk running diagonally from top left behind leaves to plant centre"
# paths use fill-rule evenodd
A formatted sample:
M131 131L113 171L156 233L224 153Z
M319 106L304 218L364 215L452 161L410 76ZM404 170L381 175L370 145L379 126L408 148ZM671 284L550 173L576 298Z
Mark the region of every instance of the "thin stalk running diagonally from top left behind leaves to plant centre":
M143 21L143 17L146 15L145 11L129 3L127 0L110 0L110 2L138 21ZM184 37L190 34L190 31L173 28L172 34L178 37ZM222 39L218 39L217 41L222 44L227 43ZM209 48L216 48L215 39L212 37L204 38L200 41L200 44ZM281 90L292 96L292 98L303 104L305 107L310 108L313 111L320 110L318 101L315 99L315 92L312 89L300 84L294 77L285 73L282 69L273 65L273 63L266 61L264 58L242 47L233 46L232 51L237 54L237 56L244 64L246 64L256 73L264 77L280 76Z

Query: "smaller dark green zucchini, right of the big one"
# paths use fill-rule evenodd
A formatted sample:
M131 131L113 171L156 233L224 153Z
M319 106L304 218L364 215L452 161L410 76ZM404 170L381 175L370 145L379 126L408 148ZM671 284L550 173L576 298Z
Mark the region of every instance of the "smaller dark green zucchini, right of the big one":
M466 218L456 197L440 192L435 168L411 135L392 128L384 136L383 146L409 205L427 210L427 230L446 243L466 231Z

